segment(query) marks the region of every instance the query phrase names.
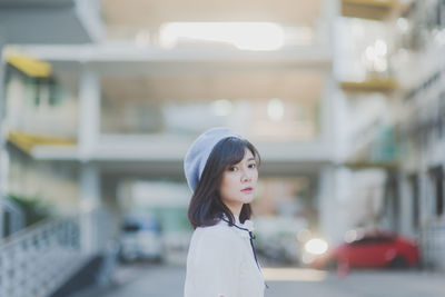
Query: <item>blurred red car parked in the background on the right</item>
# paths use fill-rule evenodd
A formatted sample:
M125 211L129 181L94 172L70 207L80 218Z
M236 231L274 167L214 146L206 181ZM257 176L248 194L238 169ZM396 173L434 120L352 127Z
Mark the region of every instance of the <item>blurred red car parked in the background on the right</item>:
M354 239L316 258L310 266L333 269L338 264L349 268L407 268L418 263L419 251L415 240L392 231L364 231Z

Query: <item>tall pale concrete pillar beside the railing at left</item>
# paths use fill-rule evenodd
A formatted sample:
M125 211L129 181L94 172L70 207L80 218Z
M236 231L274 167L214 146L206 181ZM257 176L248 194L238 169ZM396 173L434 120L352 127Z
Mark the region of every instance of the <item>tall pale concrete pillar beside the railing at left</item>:
M88 66L80 77L78 121L80 239L82 253L90 255L100 244L97 229L101 206L100 170L92 162L100 135L100 81Z

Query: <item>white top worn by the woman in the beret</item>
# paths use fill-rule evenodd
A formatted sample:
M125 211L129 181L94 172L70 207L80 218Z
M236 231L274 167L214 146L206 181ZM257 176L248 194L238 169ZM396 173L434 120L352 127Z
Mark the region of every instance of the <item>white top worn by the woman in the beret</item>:
M240 224L235 219L237 226L254 230L250 220ZM185 297L264 297L264 290L265 279L248 231L225 220L195 229L187 256Z

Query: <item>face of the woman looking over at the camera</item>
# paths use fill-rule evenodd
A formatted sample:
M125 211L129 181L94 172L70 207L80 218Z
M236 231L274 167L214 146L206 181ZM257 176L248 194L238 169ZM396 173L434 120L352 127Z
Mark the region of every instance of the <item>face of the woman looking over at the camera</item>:
M222 202L234 215L239 216L243 205L251 202L257 180L257 162L246 148L243 160L225 169L219 187Z

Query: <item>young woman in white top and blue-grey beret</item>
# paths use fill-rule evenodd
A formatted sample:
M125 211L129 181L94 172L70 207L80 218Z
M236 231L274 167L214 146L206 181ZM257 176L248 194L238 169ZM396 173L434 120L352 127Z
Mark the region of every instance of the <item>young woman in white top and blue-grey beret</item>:
M257 149L227 128L207 130L189 148L184 169L195 230L185 297L264 297L249 220L259 160Z

